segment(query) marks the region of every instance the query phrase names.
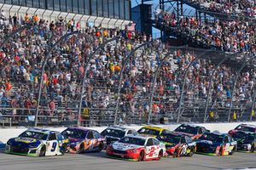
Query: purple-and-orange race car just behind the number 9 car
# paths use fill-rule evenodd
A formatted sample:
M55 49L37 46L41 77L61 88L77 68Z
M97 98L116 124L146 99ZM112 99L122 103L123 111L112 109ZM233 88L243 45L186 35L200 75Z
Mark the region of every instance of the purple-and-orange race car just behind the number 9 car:
M84 127L67 127L61 134L68 139L67 151L69 153L100 152L106 144L100 133Z

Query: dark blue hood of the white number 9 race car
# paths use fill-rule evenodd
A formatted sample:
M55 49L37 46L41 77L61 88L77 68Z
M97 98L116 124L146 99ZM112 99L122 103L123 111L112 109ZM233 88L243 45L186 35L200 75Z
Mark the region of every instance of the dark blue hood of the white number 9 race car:
M19 146L24 148L37 148L40 144L42 144L42 141L38 139L18 137L9 139L8 144L11 146Z

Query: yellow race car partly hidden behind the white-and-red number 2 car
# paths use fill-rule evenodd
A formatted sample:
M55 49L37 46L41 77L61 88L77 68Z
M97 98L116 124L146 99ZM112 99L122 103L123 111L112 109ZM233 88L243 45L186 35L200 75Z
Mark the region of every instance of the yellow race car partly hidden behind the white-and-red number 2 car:
M151 137L157 137L161 133L168 133L168 132L169 130L164 127L151 127L151 126L144 126L137 131L137 133L143 136L151 136Z

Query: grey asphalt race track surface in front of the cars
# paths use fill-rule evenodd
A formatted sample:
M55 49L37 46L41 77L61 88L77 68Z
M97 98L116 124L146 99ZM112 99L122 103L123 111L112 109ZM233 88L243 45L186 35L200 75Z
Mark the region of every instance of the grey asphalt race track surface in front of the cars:
M233 156L203 156L162 158L160 161L122 161L101 153L65 156L27 157L14 156L0 150L0 170L201 170L256 168L256 153L238 153Z

